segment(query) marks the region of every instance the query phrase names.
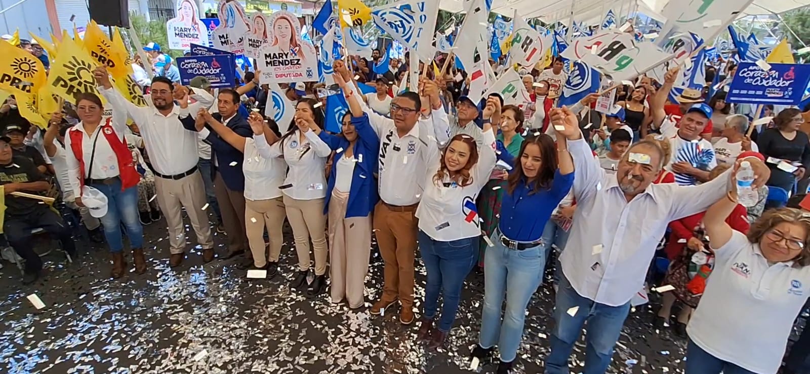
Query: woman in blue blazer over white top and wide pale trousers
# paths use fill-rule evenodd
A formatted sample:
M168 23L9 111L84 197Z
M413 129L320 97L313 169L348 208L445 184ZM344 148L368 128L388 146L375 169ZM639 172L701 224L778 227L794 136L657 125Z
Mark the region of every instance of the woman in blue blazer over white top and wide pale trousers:
M351 93L344 95L348 101L356 100ZM345 298L349 307L355 309L363 306L365 274L369 270L371 212L378 199L373 174L377 170L380 139L365 114L359 118L343 115L341 131L340 135L321 131L318 136L335 151L324 204L329 214L332 302L339 303Z

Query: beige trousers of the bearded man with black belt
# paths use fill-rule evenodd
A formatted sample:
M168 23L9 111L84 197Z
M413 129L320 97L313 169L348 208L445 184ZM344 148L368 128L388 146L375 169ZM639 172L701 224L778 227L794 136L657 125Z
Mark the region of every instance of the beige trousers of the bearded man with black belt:
M183 230L183 213L189 215L191 227L197 234L197 242L203 249L214 247L211 237L211 226L208 214L203 210L207 205L203 175L198 172L185 178L173 180L155 176L157 204L166 217L168 224L168 243L173 255L185 252L185 230Z

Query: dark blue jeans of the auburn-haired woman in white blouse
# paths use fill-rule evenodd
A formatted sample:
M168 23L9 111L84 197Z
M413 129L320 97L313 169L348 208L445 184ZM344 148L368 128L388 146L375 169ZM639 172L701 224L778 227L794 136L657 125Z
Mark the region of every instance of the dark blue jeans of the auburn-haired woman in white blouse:
M444 303L437 327L446 333L453 327L464 278L478 258L478 237L440 242L419 230L418 239L424 268L428 270L428 282L424 287L424 318L433 320L436 316L441 291Z

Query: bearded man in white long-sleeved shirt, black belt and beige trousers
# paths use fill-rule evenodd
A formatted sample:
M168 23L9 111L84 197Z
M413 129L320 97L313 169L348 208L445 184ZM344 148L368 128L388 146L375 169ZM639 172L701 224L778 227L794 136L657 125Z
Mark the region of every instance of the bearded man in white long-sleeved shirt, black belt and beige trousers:
M102 67L101 69L104 69ZM214 240L208 223L205 186L199 173L198 132L190 113L208 109L214 102L208 92L173 84L166 77L152 80L147 101L152 105L141 108L113 89L109 76L100 79L100 92L114 110L126 112L138 123L155 174L155 187L160 210L168 224L168 242L172 253L169 265L177 267L185 254L185 230L182 208L189 215L197 241L203 247L203 261L214 260ZM189 98L196 102L189 104ZM174 105L174 100L180 105ZM181 118L184 118L181 121Z

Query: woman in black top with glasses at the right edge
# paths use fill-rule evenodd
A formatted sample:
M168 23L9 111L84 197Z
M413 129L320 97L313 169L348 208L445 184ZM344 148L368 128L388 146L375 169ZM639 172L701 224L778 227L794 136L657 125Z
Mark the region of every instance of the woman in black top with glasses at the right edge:
M799 131L804 123L798 109L786 109L779 112L774 118L774 127L765 129L757 139L760 153L769 159L770 179L765 183L768 188L781 188L787 192L793 191L795 182L804 177L804 170L810 166L810 139L808 135ZM787 203L779 200L769 200L765 208L784 206Z

